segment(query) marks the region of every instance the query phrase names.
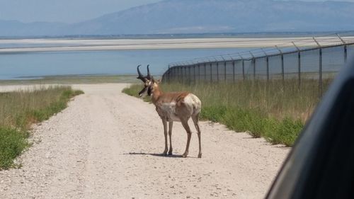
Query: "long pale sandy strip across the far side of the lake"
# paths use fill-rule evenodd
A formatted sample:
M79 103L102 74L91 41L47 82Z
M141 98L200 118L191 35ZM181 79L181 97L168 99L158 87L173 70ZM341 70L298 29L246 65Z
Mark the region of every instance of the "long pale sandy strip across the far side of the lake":
M345 37L352 41L354 37ZM317 38L321 45L341 43L336 37ZM186 39L112 39L112 40L65 40L65 39L25 39L0 40L0 46L6 44L33 45L34 47L0 48L0 53L9 52L47 52L82 50L152 50L152 49L188 49L188 48L230 48L230 47L289 47L292 41L299 47L316 46L311 37L292 38L186 38ZM45 45L45 47L40 47ZM39 46L39 47L35 47Z

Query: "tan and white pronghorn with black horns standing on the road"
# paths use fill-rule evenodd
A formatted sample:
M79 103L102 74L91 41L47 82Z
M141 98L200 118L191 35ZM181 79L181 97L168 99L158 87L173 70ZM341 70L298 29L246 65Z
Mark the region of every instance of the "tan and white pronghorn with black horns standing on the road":
M202 108L202 103L199 98L192 93L188 92L173 92L173 93L164 93L159 88L159 81L155 81L154 77L151 76L149 71L149 65L147 65L147 76L142 76L142 73L139 71L139 66L137 66L137 73L139 76L137 79L140 79L144 82L144 88L139 92L139 96L148 95L152 97L152 103L156 106L156 111L159 113L159 116L164 125L164 135L165 135L165 150L164 155L167 154L168 144L167 144L167 122L169 122L169 137L170 137L170 149L169 155L172 154L172 127L173 122L181 122L185 131L187 132L187 145L185 147L185 152L182 157L187 157L188 149L190 144L190 136L192 132L188 125L189 118L192 118L196 130L198 131L198 141L199 141L199 154L198 157L202 157L202 147L200 143L200 127L199 127L199 113Z

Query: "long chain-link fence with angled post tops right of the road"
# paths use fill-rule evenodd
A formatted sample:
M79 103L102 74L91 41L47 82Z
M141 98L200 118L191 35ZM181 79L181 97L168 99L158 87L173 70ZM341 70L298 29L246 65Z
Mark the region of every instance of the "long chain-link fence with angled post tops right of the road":
M353 36L329 35L214 57L202 57L169 64L162 78L167 82L236 82L246 79L265 81L316 79L319 92L323 79L331 79L354 55Z

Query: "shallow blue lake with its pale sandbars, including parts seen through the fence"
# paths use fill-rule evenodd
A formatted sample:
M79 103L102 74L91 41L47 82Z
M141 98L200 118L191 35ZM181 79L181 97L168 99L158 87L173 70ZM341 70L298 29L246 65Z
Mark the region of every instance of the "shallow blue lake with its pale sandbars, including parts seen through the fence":
M329 40L338 42L338 38L328 37L317 41L328 44ZM353 38L348 37L346 40L353 41ZM238 52L246 52L246 57L249 57L250 50L257 57L265 53L278 53L275 45L281 47L282 52L287 52L295 50L291 41L296 41L299 47L317 46L308 37L0 39L0 79L67 74L136 74L138 64L144 66L142 72L146 72L145 66L150 64L152 74L161 75L171 62ZM270 47L270 50L265 52L261 47L265 50ZM352 51L353 45L348 46L348 55ZM313 71L318 66L318 52L314 51L314 55L308 56L311 52L302 54L302 69ZM338 66L343 65L342 54L341 47L324 50L324 70L338 70ZM292 64L297 62L296 57L291 61Z

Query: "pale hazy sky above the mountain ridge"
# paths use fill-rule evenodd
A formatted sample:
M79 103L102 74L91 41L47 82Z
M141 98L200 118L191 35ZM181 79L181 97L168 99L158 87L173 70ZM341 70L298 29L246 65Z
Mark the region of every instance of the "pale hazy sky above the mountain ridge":
M0 0L0 19L74 23L157 1L161 0Z

